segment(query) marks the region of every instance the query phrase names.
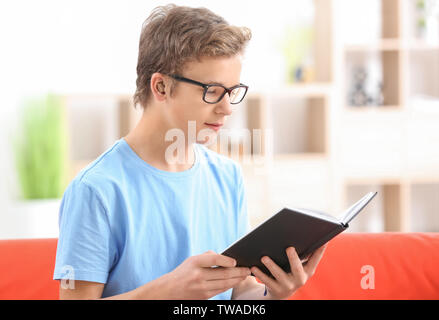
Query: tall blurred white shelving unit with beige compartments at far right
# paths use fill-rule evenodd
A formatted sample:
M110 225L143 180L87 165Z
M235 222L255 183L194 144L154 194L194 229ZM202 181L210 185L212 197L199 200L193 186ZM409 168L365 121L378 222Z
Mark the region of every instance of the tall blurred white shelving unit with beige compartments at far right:
M341 140L337 148L342 159L337 170L337 180L343 185L341 203L353 201L358 190L376 190L376 204L365 210L358 229L439 231L434 224L439 208L422 204L421 195L427 189L419 185L426 179L433 185L439 181L434 147L439 145L439 38L436 43L415 38L410 27L415 1L377 3L380 26L372 29L381 30L378 38L361 44L340 41L337 51L345 70L339 80L340 101L347 100L352 86L349 72L355 64L378 65L371 76L383 81L383 105L345 102L339 112L335 134ZM336 11L341 12L340 7ZM431 201L436 189L428 190ZM427 217L424 221L431 221L431 227L416 222L422 220L419 217Z

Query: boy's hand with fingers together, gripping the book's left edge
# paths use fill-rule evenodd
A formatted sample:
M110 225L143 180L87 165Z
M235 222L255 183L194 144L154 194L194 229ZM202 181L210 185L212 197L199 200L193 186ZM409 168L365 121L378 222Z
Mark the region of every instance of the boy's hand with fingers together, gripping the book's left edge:
M235 259L213 251L187 258L164 276L170 281L169 299L209 299L235 287L250 275L249 268L235 265Z

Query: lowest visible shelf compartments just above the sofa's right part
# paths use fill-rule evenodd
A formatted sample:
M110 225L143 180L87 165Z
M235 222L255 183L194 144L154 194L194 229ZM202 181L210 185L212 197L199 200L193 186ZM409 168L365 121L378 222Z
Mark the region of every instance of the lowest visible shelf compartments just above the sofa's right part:
M439 232L439 179L346 180L345 207L370 191L378 194L351 223L349 232Z

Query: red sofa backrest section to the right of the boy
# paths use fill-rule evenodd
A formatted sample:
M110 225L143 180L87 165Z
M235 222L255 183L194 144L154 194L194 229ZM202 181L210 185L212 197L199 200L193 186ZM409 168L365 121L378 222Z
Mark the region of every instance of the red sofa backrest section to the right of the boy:
M292 299L439 299L439 233L343 233Z

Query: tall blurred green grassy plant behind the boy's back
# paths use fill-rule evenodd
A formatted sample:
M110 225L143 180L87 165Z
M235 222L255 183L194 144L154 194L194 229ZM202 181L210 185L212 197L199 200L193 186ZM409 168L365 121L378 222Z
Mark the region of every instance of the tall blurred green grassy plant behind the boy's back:
M26 98L14 139L24 199L60 198L66 185L67 139L62 100L54 94Z

